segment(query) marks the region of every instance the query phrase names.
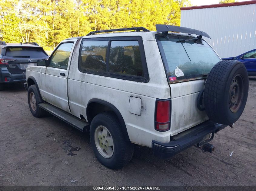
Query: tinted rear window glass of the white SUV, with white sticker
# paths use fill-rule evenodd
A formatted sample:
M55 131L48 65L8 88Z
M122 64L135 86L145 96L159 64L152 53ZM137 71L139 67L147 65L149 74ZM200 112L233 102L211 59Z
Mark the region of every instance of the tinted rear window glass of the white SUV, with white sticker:
M221 59L207 42L182 41L191 37L156 36L170 81L202 78ZM179 42L177 42L179 41Z

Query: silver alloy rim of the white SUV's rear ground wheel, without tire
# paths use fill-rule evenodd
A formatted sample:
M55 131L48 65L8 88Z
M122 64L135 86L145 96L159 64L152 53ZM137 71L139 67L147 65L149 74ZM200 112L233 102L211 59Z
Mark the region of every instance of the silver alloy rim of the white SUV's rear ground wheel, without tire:
M113 138L104 126L98 126L94 133L95 145L104 158L111 158L114 153Z

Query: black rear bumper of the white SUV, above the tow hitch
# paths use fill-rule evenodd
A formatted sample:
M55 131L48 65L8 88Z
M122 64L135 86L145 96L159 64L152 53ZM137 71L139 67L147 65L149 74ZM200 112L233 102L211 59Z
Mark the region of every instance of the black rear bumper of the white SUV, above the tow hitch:
M152 150L159 158L168 159L193 145L198 143L202 144L206 135L212 133L213 137L214 133L227 126L228 125L222 125L208 120L171 137L171 141L168 143L161 143L152 140ZM211 139L209 139L209 141L211 141ZM206 144L209 141L205 141L203 144Z

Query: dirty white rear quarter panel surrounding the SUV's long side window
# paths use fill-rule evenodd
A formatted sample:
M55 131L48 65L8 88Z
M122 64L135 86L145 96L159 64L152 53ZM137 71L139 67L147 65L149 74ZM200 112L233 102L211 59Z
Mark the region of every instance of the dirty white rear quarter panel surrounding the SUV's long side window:
M70 79L68 79L69 103L72 114L77 117L82 114L86 117L86 107L89 100L93 98L105 100L120 111L131 142L148 147L151 147L152 140L169 142L170 132L155 131L156 98L168 99L171 97L155 34L155 32L118 33L118 36L142 36L150 79L148 83L82 73L78 70L79 47L75 49L71 61ZM117 34L100 34L93 37L106 36L116 37ZM78 90L79 93L77 93ZM141 99L140 116L129 112L131 96Z

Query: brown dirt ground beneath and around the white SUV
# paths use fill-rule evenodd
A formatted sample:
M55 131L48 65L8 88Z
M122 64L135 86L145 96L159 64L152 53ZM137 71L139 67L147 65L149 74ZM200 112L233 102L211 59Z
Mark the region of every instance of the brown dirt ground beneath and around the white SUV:
M33 117L24 87L8 86L0 92L0 185L256 185L256 78L249 84L244 113L214 135L213 154L191 147L161 160L136 147L121 170L97 161L88 133L50 114Z

